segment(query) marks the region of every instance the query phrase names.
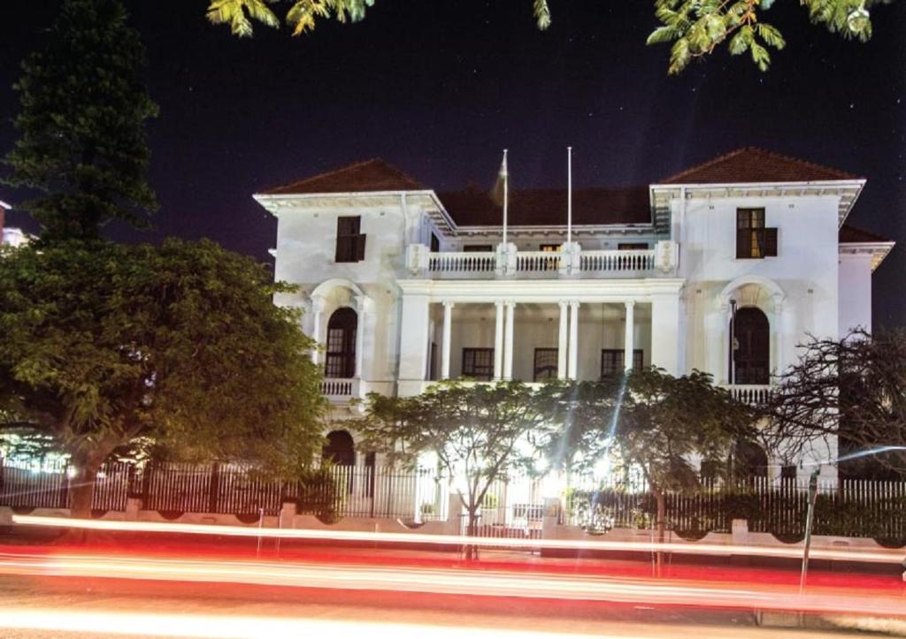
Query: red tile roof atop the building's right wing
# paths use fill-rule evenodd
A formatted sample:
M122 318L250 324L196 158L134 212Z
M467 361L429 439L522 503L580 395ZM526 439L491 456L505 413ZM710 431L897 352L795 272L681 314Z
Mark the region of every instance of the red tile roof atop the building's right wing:
M737 148L697 167L687 168L660 184L745 184L752 182L819 182L854 179L850 173L762 148Z

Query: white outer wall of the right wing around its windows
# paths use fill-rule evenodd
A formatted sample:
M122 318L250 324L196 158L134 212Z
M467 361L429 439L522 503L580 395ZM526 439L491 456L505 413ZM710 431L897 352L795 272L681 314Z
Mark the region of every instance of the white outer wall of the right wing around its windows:
M774 311L768 291L747 291L746 305L766 310L772 331L772 367L795 358L806 333L838 335L837 196L689 199L681 230L679 273L686 278L686 368L706 370L727 380L727 311L718 296L729 282L745 276L773 281L783 291ZM764 207L767 227L776 227L777 256L736 259L737 207ZM679 202L671 203L678 215Z

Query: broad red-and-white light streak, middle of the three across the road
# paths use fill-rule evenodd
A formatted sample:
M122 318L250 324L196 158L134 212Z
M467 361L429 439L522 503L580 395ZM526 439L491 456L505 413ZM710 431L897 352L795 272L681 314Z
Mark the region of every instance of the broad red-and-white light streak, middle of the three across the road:
M854 615L906 615L902 596L874 589L815 588L803 596L777 584L550 575L512 570L362 567L290 561L110 558L101 555L0 554L0 573L31 577L103 577L530 597L665 606L803 610Z

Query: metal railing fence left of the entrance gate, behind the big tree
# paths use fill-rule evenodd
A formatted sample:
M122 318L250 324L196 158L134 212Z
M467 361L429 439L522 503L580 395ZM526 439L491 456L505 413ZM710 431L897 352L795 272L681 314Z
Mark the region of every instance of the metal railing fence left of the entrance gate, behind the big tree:
M0 505L17 510L68 508L70 469L65 462L0 463ZM394 518L446 520L448 482L429 469L332 466L298 482L268 479L252 468L211 464L107 463L95 482L93 510L126 510L128 497L166 517L184 512L277 514L284 501L325 520Z

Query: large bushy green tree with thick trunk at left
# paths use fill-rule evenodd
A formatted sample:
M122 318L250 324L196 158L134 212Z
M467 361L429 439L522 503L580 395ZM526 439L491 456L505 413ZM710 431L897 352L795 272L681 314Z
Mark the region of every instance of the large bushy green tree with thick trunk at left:
M50 436L72 514L118 447L292 476L321 443L320 373L266 268L216 243L59 241L0 254L0 415Z

